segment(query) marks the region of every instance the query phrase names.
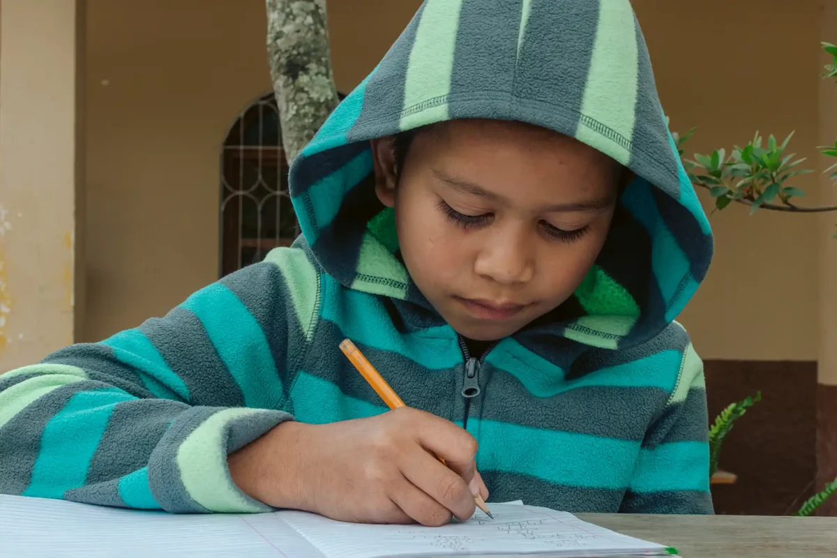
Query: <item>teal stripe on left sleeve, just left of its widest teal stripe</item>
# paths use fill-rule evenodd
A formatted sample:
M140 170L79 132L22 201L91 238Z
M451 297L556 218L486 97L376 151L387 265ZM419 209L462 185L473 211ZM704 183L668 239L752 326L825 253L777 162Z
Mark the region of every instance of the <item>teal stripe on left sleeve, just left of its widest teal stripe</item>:
M189 402L190 395L180 376L163 360L157 347L140 330L125 330L101 342L109 346L122 364L133 366L146 389L161 399L180 398Z

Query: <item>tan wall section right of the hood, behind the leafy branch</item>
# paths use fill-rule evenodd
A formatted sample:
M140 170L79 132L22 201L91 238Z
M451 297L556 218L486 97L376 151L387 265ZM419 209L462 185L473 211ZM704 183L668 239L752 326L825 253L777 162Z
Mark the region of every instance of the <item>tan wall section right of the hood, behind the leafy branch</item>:
M814 156L820 145L817 4L634 0L672 127L698 126L687 153L721 146L729 152L757 130L777 136L795 130L793 151ZM762 64L753 61L762 52L781 77L765 82ZM803 178L800 184L814 193L810 202L817 202L817 177ZM749 217L746 207L731 206L710 222L715 259L681 318L701 356L815 360L817 218L778 212Z

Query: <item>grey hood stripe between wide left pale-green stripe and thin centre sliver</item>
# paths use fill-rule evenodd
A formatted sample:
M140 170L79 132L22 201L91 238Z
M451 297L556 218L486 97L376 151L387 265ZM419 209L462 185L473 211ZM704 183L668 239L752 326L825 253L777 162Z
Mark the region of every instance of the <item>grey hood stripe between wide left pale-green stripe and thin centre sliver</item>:
M475 110L486 118L497 116L497 95L475 100L475 91L506 93L511 98L518 36L514 22L520 21L522 11L522 0L463 0L450 76L450 118ZM460 102L466 106L460 107Z

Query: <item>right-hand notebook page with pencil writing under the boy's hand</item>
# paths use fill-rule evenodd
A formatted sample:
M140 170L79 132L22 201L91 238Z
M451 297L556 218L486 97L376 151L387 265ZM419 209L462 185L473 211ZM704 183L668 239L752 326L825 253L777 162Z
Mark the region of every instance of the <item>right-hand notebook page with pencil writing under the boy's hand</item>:
M314 514L282 512L326 558L436 555L667 555L664 546L619 535L573 514L520 504L490 504L495 519L477 511L465 522L427 528L353 525Z

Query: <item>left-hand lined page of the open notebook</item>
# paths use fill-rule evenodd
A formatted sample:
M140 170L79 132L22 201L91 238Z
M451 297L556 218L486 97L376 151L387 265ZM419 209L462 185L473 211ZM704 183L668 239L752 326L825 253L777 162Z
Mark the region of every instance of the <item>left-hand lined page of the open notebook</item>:
M0 494L0 555L27 558L322 556L281 514L168 514ZM270 529L258 524L270 518Z

